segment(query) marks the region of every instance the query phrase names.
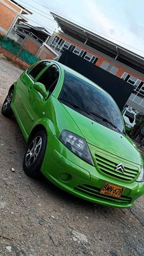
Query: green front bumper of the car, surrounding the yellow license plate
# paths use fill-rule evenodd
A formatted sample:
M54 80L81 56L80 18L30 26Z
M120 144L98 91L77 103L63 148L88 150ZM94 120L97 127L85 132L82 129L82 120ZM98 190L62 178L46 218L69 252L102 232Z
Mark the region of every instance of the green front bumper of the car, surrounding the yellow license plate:
M59 188L93 203L109 207L131 207L135 199L144 193L144 183L124 183L102 175L95 166L85 163L63 145L56 136L48 137L41 172ZM120 198L99 194L105 183L123 186Z

